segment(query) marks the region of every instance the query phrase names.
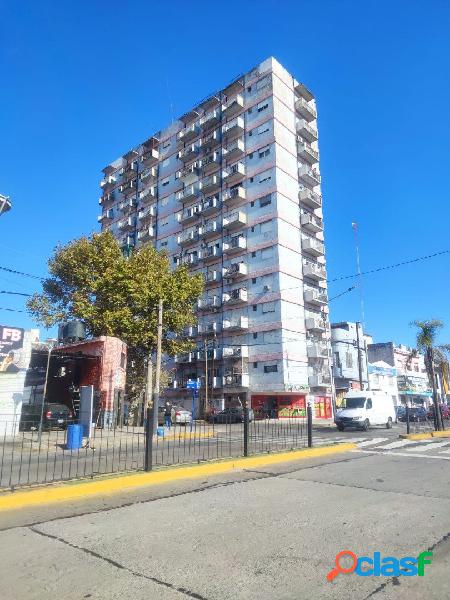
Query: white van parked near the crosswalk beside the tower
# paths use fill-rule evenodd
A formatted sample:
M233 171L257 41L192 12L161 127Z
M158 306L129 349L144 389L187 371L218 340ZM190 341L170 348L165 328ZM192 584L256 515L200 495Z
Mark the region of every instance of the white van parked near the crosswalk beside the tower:
M371 425L384 425L390 429L395 421L392 396L386 392L365 390L348 392L342 408L336 411L335 423L339 431L357 427L368 431Z

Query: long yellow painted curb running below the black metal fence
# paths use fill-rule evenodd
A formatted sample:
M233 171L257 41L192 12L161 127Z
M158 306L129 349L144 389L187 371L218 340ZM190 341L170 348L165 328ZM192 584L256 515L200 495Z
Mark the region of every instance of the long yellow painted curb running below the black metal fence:
M149 473L134 473L121 477L97 479L96 481L83 480L40 487L33 490L20 492L4 492L0 494L0 511L16 510L42 504L53 504L78 498L88 498L96 495L113 494L136 488L170 483L182 479L195 479L226 473L235 469L248 469L263 467L277 463L295 460L317 458L329 454L338 454L354 450L356 444L335 444L333 446L320 446L319 448L305 448L277 454L264 454L248 458L229 459L220 462L208 462L201 465L170 468Z

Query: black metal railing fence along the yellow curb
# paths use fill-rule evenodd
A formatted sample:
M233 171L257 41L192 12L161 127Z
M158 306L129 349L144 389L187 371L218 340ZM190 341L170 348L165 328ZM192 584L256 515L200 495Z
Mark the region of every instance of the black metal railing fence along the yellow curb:
M35 422L18 422L14 415L2 415L0 426L0 489L143 470L149 450L146 441L151 443L150 468L308 445L305 418L175 423L159 427L159 435L154 436L147 436L143 426L94 427L82 447L71 449L65 428L40 431Z

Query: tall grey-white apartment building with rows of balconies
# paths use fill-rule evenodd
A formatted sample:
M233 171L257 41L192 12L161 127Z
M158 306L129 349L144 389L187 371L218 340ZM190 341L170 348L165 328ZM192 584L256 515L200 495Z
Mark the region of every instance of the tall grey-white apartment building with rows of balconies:
M317 112L269 58L104 170L102 229L205 277L195 350L169 397L201 378L216 408L245 399L280 417L331 416Z

